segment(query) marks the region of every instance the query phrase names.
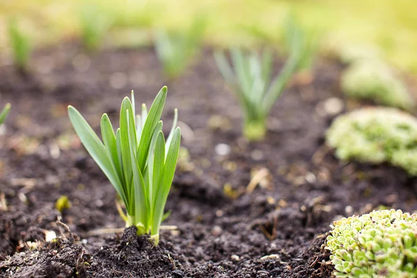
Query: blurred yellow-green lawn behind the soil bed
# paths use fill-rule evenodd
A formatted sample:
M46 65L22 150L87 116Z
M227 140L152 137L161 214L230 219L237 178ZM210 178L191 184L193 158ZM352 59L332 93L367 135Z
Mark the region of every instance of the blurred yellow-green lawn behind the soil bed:
M294 13L306 28L324 32L322 49L376 45L391 64L417 73L415 0L1 0L0 51L9 49L9 17L19 18L35 45L54 44L79 37L86 5L111 22L108 46L147 44L153 28L181 30L197 16L206 19L208 44L275 44L284 17Z

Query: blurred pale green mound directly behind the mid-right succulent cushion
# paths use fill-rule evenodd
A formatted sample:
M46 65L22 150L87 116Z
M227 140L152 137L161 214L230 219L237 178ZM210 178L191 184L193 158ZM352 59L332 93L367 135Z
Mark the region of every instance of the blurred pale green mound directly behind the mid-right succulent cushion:
M341 87L349 97L368 99L377 104L404 109L411 109L415 104L400 79L387 65L377 61L352 63L341 76Z

